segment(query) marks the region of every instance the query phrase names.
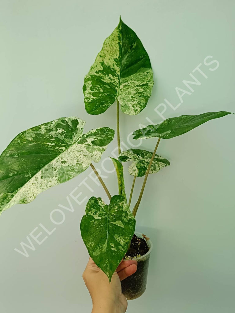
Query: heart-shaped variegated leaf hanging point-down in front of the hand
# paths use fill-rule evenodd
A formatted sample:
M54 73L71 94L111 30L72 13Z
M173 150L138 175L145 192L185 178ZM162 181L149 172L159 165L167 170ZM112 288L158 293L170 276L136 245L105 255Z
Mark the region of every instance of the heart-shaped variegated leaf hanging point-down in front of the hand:
M80 229L89 255L111 281L135 230L135 218L125 198L113 196L107 205L101 198L91 197Z

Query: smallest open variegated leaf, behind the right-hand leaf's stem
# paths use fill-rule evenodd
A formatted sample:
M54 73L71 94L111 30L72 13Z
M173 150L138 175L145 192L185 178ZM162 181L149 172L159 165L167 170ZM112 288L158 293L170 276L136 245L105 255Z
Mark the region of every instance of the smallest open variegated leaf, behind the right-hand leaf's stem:
M118 159L121 162L132 161L129 166L129 174L132 176L142 177L146 174L149 167L149 162L152 158L153 152L141 150L141 149L128 149L121 152ZM170 165L170 162L155 154L149 173L157 173L161 168Z

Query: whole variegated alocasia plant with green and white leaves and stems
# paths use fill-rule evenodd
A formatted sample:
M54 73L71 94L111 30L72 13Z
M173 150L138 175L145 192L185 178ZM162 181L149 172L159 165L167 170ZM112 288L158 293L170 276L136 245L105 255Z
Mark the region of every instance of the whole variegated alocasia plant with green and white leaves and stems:
M109 204L91 197L81 220L81 236L94 262L109 281L128 250L135 230L135 216L149 173L156 173L170 162L156 154L160 138L180 136L195 127L230 112L209 112L169 118L157 125L134 131L134 139L157 137L153 152L128 149L121 152L119 103L123 113L136 115L151 95L153 72L140 39L120 18L117 28L105 40L102 50L86 75L84 102L89 114L101 114L117 100L118 159L111 158L118 177L118 194L111 196L91 163L99 162L112 141L114 131L101 127L83 133L85 121L63 117L35 126L16 136L0 156L0 214L14 204L29 203L44 190L68 181L87 167L96 173ZM122 162L131 161L134 176L127 204ZM144 176L138 201L130 211L136 177Z

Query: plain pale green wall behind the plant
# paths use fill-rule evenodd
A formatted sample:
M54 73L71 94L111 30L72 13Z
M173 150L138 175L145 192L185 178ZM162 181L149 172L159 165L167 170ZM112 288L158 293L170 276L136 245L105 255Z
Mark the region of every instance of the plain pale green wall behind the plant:
M61 116L85 119L86 131L114 127L115 106L99 116L86 113L82 85L119 14L141 38L155 80L147 108L138 116L121 114L126 144L126 135L139 123L149 124L146 117L161 121L154 108L165 98L179 103L175 87L183 88L182 80L189 80L200 63L208 78L195 72L201 85L183 97L176 111L168 106L165 117L235 111L234 13L232 0L2 0L0 151L20 131ZM219 61L217 70L203 64L208 55ZM154 250L146 294L129 302L129 313L234 312L234 121L227 116L160 143L159 154L171 166L149 177L137 214L137 230L151 237ZM155 142L150 139L143 146L153 150ZM2 214L1 313L91 311L81 278L88 258L79 230L85 202L73 202L73 213L64 210L65 222L43 244L35 243L35 251L28 249L28 258L14 251L39 223L50 230L55 226L50 212L66 205L66 196L89 173ZM115 175L108 176L107 185L115 193ZM83 185L79 191L84 197L107 200L101 187L90 178L86 182L94 192ZM130 182L128 177L126 185ZM140 184L141 179L135 200Z

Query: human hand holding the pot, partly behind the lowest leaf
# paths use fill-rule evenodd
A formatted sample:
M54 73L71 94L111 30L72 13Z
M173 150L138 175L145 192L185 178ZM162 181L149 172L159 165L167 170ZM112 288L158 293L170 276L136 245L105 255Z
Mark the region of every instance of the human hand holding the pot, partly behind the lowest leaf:
M134 274L137 261L122 261L112 275L111 283L105 273L90 258L82 278L91 295L92 313L124 313L127 310L127 299L122 294L121 280Z

